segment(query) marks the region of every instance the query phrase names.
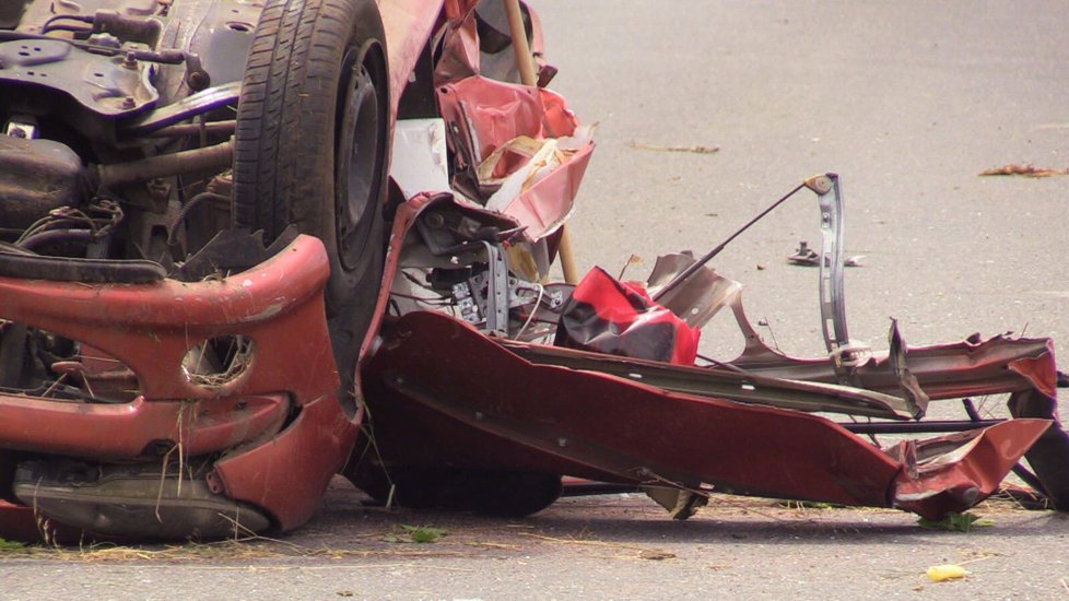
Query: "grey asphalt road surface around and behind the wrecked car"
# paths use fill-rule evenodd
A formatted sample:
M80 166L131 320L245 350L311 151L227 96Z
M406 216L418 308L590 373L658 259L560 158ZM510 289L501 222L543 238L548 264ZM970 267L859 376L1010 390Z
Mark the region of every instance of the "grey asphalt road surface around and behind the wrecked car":
M553 87L600 122L572 226L584 269L618 272L635 254L641 276L658 254L701 254L835 172L846 249L865 255L846 283L859 343L884 347L896 317L913 344L1012 330L1069 352L1069 177L977 175L1069 167L1064 4L534 5L561 69ZM823 349L817 273L785 261L818 239L803 193L714 261L791 354ZM727 358L741 347L729 322L704 344ZM0 599L1069 598L1067 516L1008 503L976 512L992 525L963 534L897 511L716 497L672 522L633 495L493 520L369 509L338 482L283 542L0 554ZM404 542L402 525L447 534ZM924 576L948 563L971 575Z

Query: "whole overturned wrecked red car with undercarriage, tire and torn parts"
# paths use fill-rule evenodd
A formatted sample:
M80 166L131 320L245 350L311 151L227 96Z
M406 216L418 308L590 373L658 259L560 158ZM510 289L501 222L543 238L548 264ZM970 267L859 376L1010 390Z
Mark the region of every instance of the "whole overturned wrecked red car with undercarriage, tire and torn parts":
M723 244L579 281L594 131L554 73L515 0L0 8L0 537L284 531L337 473L491 515L572 476L677 518L714 492L939 518L1013 471L1069 509L1048 340L851 344L835 174L778 201L817 197L824 357L761 340ZM745 350L703 356L724 309Z

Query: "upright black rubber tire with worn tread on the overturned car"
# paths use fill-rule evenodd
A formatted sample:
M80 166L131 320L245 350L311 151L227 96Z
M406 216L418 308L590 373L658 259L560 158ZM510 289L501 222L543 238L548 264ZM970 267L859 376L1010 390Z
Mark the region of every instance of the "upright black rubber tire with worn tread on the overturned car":
M237 110L235 225L262 229L266 243L290 225L324 241L327 316L345 390L383 276L384 40L375 0L269 0Z

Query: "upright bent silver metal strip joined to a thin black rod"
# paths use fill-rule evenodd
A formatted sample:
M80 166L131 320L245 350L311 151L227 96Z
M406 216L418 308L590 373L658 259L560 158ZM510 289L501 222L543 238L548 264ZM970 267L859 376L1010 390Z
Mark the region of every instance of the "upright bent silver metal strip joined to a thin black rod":
M836 357L836 368L854 360L846 331L846 298L843 288L843 191L838 175L815 175L806 187L817 193L820 204L820 316L827 352ZM837 370L837 369L836 369Z

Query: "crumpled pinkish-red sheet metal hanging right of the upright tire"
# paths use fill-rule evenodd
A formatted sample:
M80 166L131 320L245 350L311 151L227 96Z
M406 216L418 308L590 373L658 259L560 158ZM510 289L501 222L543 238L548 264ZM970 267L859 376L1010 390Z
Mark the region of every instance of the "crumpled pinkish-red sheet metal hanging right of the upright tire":
M435 70L456 161L454 188L515 219L525 239L537 241L572 212L594 151L592 129L579 127L559 94L481 73L475 20L471 12L446 32Z

